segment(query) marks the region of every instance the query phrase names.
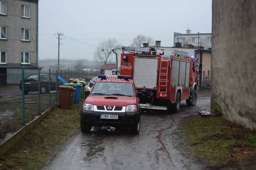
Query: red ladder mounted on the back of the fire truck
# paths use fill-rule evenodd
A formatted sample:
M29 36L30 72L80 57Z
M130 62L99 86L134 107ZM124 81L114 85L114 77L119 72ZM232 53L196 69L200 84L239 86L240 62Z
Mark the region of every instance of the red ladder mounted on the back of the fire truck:
M167 93L167 79L168 79L169 60L170 60L169 56L161 56L158 95L160 95L160 92Z

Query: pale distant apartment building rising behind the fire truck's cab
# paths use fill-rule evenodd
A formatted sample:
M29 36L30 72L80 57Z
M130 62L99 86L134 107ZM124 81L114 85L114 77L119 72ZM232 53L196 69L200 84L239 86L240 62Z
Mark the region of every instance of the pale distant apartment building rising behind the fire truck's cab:
M181 47L189 48L189 45L193 45L194 48L200 49L212 49L212 33L196 33L191 34L191 30L186 30L187 34L173 33L173 46L176 46L176 42L181 43Z

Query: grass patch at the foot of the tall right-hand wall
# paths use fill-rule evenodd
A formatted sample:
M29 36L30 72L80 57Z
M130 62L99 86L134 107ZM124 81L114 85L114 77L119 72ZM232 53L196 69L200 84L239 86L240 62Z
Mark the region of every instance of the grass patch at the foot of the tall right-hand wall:
M188 116L180 122L187 147L212 166L256 163L256 133L222 116Z

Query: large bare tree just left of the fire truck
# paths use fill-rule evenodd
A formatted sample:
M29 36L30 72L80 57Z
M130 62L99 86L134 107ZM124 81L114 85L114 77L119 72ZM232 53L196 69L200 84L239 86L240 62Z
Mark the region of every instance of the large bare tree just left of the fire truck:
M94 52L94 61L101 67L106 63L115 63L115 55L112 53L112 49L121 48L122 46L121 44L117 44L117 42L118 41L115 38L109 38L107 41L99 42L96 51Z

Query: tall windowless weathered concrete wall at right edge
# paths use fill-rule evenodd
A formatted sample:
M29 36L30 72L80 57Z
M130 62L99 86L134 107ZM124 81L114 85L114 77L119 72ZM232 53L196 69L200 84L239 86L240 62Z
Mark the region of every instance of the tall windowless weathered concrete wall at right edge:
M256 1L212 1L211 108L256 128Z

